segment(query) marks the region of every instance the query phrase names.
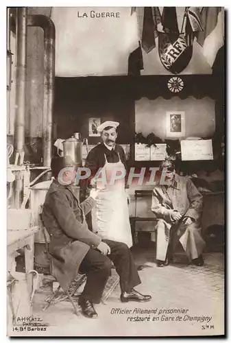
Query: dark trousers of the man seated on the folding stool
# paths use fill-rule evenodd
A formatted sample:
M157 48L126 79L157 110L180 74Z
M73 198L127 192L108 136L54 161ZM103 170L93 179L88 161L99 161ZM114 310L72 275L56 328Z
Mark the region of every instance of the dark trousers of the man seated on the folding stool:
M110 276L112 262L120 277L121 292L127 292L141 283L127 245L109 239L103 239L103 241L110 246L110 255L102 255L99 250L90 248L80 265L80 272L84 272L87 276L81 296L93 303L99 303L101 300L104 287Z

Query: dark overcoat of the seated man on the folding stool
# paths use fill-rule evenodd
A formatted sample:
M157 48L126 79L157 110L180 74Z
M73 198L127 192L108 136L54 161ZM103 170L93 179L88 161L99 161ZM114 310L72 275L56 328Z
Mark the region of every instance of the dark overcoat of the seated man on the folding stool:
M80 204L71 186L53 180L42 209L42 219L50 236L51 274L66 290L90 248L97 248L101 238L88 229L86 214L95 205L93 198Z

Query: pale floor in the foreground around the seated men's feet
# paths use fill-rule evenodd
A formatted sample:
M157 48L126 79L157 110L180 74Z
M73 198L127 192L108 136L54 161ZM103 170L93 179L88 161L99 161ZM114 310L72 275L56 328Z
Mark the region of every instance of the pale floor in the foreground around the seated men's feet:
M223 254L205 254L203 267L181 263L157 268L152 249L134 252L136 265L143 265L139 272L142 284L139 292L151 294L149 303L121 303L117 286L108 298L107 305L95 308L99 318L90 320L73 314L70 303L51 305L41 311L47 294L37 292L34 297L34 316L49 323L46 332L30 335L73 336L161 336L161 335L221 335L224 332L224 274ZM178 261L179 262L179 261ZM127 309L130 314L113 314ZM152 310L152 314L137 314L136 309ZM169 310L169 314L166 314ZM156 313L155 313L156 311ZM175 313L174 313L175 311ZM182 314L177 312L181 311ZM141 311L140 311L141 312ZM173 314L171 313L173 312ZM179 321L179 316L182 320ZM129 318L146 318L131 321ZM147 318L150 319L147 321Z

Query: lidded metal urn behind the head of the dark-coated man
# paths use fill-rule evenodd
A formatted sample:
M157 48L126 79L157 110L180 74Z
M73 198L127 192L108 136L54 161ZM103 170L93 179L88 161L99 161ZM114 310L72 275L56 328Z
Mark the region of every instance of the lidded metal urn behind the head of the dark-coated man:
M64 156L71 156L77 167L82 167L82 141L80 139L80 134L76 132L75 137L72 136L71 138L66 139L62 144Z

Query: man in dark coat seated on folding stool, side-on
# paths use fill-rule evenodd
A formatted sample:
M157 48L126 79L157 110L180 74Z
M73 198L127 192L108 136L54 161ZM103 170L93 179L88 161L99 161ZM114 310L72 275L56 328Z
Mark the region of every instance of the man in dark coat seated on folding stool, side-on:
M62 289L69 287L78 270L86 273L87 281L79 304L86 317L97 317L93 303L101 300L112 261L120 276L121 302L149 301L151 296L134 289L141 279L127 245L102 240L88 230L85 215L93 208L97 191L92 190L90 197L80 204L71 187L76 171L69 156L53 158L51 170L54 180L45 198L42 217L51 238L51 274Z

